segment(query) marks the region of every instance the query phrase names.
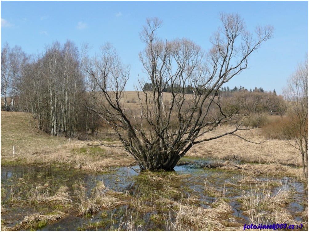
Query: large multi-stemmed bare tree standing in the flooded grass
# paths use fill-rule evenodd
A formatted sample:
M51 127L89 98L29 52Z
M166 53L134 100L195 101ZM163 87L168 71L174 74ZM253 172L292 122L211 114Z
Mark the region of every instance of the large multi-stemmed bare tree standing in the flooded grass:
M110 44L101 57L87 65L87 72L101 92L100 109L93 109L117 134L125 150L142 169L172 170L197 143L251 129L243 124L249 115L241 107L222 102L222 85L248 66L248 57L272 37L273 27L257 27L256 38L245 28L239 15L221 14L223 26L213 34L213 47L204 53L188 39L161 40L156 31L158 18L147 19L140 37L145 49L139 54L145 78L139 79L138 104L125 107L125 84L129 70L122 65ZM151 91L142 90L151 83ZM163 95L168 86L169 95ZM187 86L193 94L187 94ZM142 91L140 91L142 90ZM235 128L207 137L226 122ZM257 125L256 125L257 126Z

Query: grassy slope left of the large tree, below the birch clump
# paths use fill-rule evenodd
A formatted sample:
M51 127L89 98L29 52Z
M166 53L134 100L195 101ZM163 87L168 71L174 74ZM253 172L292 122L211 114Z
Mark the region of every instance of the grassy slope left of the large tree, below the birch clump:
M29 114L1 111L1 167L7 165L50 165L105 171L128 166L132 159L123 151L93 147L95 141L51 136L29 126ZM15 146L15 155L13 155Z

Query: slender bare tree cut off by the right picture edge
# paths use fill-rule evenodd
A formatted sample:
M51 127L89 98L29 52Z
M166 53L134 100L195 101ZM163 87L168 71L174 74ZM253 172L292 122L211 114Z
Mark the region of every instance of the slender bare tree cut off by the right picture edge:
M288 143L302 155L304 177L308 178L308 53L306 60L299 64L283 89L288 108L289 124L284 128L293 141Z

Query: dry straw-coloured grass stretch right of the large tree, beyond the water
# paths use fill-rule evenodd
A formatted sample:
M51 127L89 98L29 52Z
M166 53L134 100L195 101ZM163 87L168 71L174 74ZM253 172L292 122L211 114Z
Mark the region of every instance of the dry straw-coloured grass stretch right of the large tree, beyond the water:
M206 134L203 138L216 136L220 133L231 131L233 127L217 127L214 131ZM279 163L284 165L301 166L299 151L289 146L282 140L265 140L260 135L261 129L238 131L237 134L254 142L249 143L233 135L227 135L215 140L196 144L186 154L192 157L210 157L219 159L237 159L243 162L256 163Z

